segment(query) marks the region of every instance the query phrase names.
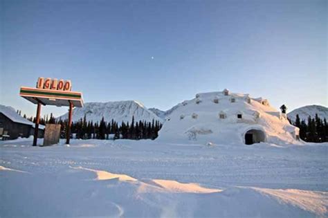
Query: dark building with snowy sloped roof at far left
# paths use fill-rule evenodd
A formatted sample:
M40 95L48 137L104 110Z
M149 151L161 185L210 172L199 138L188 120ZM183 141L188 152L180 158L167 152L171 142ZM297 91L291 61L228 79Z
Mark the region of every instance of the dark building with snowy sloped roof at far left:
M20 116L12 107L0 105L0 129L0 134L8 135L8 139L26 138L34 134L35 124ZM43 125L39 125L38 136L44 136Z

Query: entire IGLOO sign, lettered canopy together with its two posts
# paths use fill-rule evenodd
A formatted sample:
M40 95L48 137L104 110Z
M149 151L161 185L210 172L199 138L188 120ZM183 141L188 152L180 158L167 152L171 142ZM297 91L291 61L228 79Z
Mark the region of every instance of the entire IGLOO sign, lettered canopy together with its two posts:
M37 105L37 117L35 121L35 131L33 146L37 145L37 135L39 131L41 105L55 105L57 107L69 107L69 119L66 129L66 144L71 138L71 125L74 107L83 107L82 93L71 91L71 80L57 80L51 78L39 78L37 87L21 87L19 96Z

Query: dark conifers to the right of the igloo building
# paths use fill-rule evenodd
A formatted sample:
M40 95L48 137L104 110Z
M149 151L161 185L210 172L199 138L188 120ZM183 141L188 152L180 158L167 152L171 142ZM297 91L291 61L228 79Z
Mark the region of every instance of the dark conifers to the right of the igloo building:
M311 143L324 143L328 142L328 125L327 120L323 120L316 116L311 118L309 116L307 120L300 120L300 116L296 115L295 122L289 120L292 125L300 128L300 138L306 142Z

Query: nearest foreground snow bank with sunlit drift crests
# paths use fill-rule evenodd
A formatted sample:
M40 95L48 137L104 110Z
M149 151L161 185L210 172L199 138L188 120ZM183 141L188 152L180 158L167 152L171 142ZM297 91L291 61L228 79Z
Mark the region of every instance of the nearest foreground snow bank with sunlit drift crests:
M75 170L85 170L75 168ZM103 172L100 170L88 171ZM13 172L15 173L15 172ZM78 173L78 174L77 174ZM268 188L201 188L197 184L110 176L90 180L71 172L58 176L5 174L1 217L316 217L327 215L328 193ZM79 175L80 174L80 175ZM107 174L113 175L110 172ZM114 178L115 177L115 178ZM124 178L132 178L124 175ZM84 178L84 179L82 179ZM28 184L19 185L19 179ZM118 180L117 180L118 179ZM9 181L11 181L9 183ZM57 191L56 191L57 190ZM11 193L11 194L9 194ZM14 194L15 193L15 194ZM16 197L15 197L16 196ZM18 197L19 196L19 197ZM19 208L19 210L15 210Z

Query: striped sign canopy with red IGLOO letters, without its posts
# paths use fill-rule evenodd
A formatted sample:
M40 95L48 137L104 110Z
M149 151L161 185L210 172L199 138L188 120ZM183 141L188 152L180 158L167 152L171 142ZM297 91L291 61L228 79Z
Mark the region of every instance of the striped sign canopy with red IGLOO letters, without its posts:
M21 87L19 96L33 104L55 105L57 107L83 107L82 93L71 91L71 81L39 78L37 88Z

